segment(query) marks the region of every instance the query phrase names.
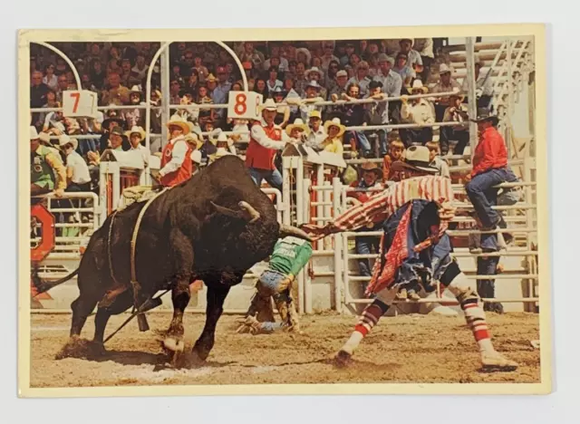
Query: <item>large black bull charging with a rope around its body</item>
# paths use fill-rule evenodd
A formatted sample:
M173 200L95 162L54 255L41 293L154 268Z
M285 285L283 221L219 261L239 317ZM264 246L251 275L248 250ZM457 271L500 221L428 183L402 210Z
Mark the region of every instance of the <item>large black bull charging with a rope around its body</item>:
M77 271L53 283L34 278L43 292L78 272L80 294L72 304L71 340L61 357L78 354L72 346L78 344L82 327L97 304L93 347L100 349L111 315L134 304L131 237L145 203L133 203L118 212L112 228L112 216L107 217L92 235ZM160 290L171 290L174 312L165 346L171 351L183 349L189 284L193 279L203 280L208 287L206 324L193 352L205 360L213 348L216 324L230 287L272 254L278 237L288 234L308 239L298 228L278 224L271 200L256 187L242 160L234 156L218 159L156 198L140 222L135 268L140 302Z

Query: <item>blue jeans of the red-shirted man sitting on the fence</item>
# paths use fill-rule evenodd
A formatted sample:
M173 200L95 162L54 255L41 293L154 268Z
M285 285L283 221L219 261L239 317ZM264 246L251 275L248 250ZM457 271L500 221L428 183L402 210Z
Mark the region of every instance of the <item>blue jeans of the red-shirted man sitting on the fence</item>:
M471 178L465 186L469 200L484 228L495 228L502 221L498 212L491 208L498 204L498 188L493 187L514 177L511 169L489 169Z

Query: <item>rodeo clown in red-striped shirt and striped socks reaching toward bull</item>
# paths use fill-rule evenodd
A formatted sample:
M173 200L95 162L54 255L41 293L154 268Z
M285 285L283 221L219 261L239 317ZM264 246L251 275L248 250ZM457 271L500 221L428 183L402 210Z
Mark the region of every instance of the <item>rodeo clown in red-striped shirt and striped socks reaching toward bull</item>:
M455 295L465 319L478 343L484 368L514 370L517 363L497 352L491 343L486 315L473 284L449 254L452 251L446 234L449 220L455 215L450 207L453 190L449 178L435 176L430 167L429 149L411 146L403 161L392 163L394 170L404 170L405 179L344 212L325 226L304 225L302 229L314 240L385 218L381 255L373 267L366 295L374 297L355 325L347 342L335 356L337 365L350 361L362 339L372 331L387 312L399 289L431 281Z

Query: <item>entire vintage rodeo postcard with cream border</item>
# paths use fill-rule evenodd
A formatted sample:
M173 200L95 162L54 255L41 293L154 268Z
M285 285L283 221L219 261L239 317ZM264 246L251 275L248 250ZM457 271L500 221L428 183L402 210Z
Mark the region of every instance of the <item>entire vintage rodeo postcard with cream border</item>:
M22 31L21 393L549 391L542 26L427 28Z

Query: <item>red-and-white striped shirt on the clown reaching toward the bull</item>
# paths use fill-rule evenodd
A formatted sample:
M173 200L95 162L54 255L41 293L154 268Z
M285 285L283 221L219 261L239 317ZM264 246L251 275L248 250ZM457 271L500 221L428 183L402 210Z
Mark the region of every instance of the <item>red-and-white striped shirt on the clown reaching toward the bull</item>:
M438 203L453 200L453 189L449 178L425 176L404 179L391 188L372 196L368 201L352 207L331 223L331 232L349 231L371 222L390 217L399 207L414 200L423 199Z

